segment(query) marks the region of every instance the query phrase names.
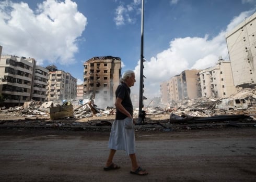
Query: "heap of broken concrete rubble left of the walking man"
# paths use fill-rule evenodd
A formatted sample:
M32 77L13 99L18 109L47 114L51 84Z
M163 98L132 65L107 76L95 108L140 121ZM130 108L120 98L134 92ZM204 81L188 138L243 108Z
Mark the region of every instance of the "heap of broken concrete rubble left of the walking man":
M77 100L76 100L77 101ZM73 102L73 103L72 103ZM24 103L24 106L14 107L14 108L0 108L0 112L5 115L11 116L21 116L21 117L36 117L44 116L50 119L61 119L61 118L90 118L92 116L102 116L102 115L113 115L115 109L107 107L107 109L99 109L93 101L90 100L78 100L75 101L64 101L64 102L44 102L30 100ZM69 105L69 106L67 106Z

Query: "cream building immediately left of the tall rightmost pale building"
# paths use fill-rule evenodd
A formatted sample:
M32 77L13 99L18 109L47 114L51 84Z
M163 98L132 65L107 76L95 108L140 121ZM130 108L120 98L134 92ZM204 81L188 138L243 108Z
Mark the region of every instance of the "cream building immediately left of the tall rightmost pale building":
M226 98L236 93L229 61L219 58L215 67L200 71L203 97Z

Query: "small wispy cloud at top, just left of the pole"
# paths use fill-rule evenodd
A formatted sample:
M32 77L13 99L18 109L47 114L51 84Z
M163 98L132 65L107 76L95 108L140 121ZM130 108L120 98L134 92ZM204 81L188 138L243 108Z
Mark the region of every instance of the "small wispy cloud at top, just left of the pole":
M122 2L121 2L122 3ZM133 24L136 22L134 15L141 12L139 5L141 0L134 0L132 3L124 6L123 3L115 9L114 22L117 26L125 25L126 23Z

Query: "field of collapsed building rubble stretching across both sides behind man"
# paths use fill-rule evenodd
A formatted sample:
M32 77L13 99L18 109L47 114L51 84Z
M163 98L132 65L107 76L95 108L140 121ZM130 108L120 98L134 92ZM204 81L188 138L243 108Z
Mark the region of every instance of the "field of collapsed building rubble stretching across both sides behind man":
M242 90L232 97L255 98L255 89ZM256 127L256 105L249 102L246 110L215 109L213 98L185 99L170 106L144 108L144 123L136 123L135 131L178 131L180 129L222 128L227 126ZM55 128L68 130L110 130L115 118L115 108L97 108L86 100L64 103L29 101L24 106L2 108L0 128ZM134 109L138 119L138 108Z

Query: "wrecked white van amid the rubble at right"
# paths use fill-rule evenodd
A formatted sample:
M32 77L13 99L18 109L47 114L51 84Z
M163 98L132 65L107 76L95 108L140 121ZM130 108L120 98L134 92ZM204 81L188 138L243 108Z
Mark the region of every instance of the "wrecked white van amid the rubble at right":
M222 99L216 103L215 108L224 110L245 110L248 109L248 103L244 98Z

